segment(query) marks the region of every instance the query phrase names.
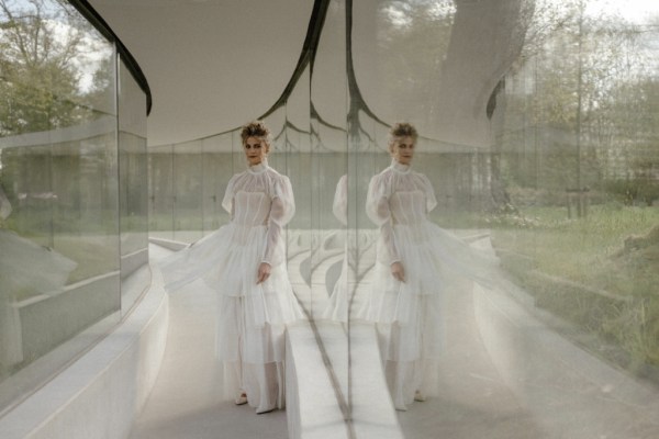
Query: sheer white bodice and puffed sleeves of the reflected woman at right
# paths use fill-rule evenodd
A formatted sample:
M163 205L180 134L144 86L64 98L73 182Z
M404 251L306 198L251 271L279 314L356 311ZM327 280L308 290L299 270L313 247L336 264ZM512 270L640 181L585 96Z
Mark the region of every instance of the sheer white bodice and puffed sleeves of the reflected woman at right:
M380 227L380 236L390 263L400 260L394 226L420 225L437 201L427 177L414 172L409 166L392 161L391 166L375 176L366 201L369 218Z

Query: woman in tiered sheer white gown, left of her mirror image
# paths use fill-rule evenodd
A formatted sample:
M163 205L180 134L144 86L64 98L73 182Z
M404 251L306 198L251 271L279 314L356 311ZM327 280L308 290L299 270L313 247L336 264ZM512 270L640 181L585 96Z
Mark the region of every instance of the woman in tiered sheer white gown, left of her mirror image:
M201 278L217 292L216 353L235 403L267 413L284 407L284 329L302 318L288 279L283 227L295 206L291 183L268 166L270 132L241 133L249 168L232 177L222 206L231 223L168 258L168 290ZM232 386L232 384L234 384Z

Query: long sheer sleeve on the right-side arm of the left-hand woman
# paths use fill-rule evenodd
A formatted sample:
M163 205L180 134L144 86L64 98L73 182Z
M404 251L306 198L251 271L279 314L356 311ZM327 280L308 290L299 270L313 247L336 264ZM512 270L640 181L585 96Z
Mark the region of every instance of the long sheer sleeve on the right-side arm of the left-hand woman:
M293 189L288 177L279 176L277 178L272 184L270 196L272 204L268 216L268 234L263 261L273 266L280 262L275 255L281 239L281 232L295 213Z

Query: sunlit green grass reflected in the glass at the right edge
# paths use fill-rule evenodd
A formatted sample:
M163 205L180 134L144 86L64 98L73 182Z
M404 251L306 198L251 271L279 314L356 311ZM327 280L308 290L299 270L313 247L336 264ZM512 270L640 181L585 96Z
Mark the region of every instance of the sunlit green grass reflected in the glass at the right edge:
M638 277L639 272L654 278L657 271L659 280L659 270L646 272L645 268L651 267L643 262L623 266L613 260L626 238L646 234L659 224L657 207L594 206L582 219L568 219L565 210L557 207L529 209L524 215L537 225L494 228L494 244L499 249L529 257L544 273L621 295L652 286L647 285L646 275Z

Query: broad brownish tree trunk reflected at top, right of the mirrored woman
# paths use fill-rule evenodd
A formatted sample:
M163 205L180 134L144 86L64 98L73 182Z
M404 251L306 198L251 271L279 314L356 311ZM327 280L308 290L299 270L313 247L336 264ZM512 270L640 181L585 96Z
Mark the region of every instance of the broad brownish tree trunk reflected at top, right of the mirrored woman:
M456 0L436 105L437 138L469 146L491 146L496 95L522 50L534 2ZM465 68L469 59L469 68ZM501 112L500 112L501 113Z

